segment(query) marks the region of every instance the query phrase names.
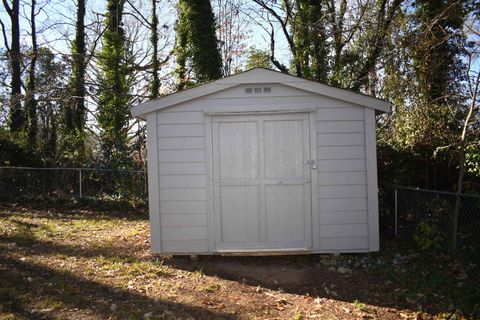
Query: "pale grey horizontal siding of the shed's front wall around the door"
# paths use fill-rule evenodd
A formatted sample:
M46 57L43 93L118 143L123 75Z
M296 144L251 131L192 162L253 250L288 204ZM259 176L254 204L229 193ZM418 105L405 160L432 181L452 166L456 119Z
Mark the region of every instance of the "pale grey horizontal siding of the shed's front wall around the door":
M255 87L255 85L252 85ZM315 252L367 251L369 219L365 116L361 106L278 84L247 95L241 85L156 112L160 246L163 253L206 253L208 167L205 107L316 107L319 237ZM150 117L152 118L152 117ZM151 132L149 127L149 139ZM155 152L150 148L149 152ZM151 157L154 159L155 157ZM149 158L150 159L150 158ZM149 167L150 170L150 167ZM152 196L154 192L150 194ZM152 207L151 207L152 208ZM155 215L155 212L151 212ZM158 213L157 213L158 216ZM315 219L314 219L315 220ZM152 234L158 225L152 225ZM152 235L152 240L155 238ZM211 248L212 249L212 248Z

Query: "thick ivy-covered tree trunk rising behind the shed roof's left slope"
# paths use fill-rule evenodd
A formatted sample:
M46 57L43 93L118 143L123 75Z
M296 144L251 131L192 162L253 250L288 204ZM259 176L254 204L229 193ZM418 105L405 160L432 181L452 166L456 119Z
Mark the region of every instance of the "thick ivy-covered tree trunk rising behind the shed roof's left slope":
M219 79L222 58L215 33L210 0L180 0L177 32L177 75L179 89L190 86L191 69L196 83Z

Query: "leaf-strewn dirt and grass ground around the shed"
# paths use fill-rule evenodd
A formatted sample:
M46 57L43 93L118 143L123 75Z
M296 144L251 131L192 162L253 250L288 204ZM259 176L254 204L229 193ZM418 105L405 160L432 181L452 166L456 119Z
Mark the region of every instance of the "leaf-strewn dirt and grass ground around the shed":
M477 263L375 254L158 257L145 212L0 205L0 319L480 319Z

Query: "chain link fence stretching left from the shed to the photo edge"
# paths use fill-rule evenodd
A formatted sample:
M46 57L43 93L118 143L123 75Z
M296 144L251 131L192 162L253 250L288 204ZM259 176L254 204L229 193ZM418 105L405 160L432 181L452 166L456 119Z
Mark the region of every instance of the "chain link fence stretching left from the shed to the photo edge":
M0 200L126 200L147 203L147 172L0 167Z

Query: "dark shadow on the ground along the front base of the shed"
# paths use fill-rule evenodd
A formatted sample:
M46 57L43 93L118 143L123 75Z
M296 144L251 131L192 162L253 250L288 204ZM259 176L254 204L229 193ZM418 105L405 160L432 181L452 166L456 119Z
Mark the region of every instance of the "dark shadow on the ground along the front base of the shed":
M375 254L273 257L175 256L167 263L187 271L287 293L431 315L480 315L478 266L465 273L446 255L419 254L384 239ZM398 253L402 252L402 254ZM455 270L459 268L459 270Z

